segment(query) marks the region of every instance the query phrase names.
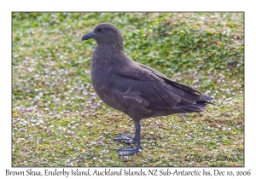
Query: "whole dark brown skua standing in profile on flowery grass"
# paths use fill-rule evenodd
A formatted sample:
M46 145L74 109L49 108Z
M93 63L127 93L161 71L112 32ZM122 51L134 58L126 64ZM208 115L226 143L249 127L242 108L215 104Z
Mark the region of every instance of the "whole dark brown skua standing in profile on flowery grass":
M109 107L127 114L135 124L134 137L119 133L113 139L131 144L119 148L119 155L142 151L142 119L200 113L206 110L207 104L214 104L211 102L213 98L201 91L131 60L124 52L123 35L113 24L98 24L92 32L84 34L82 42L91 38L96 40L90 63L91 82L96 94Z

